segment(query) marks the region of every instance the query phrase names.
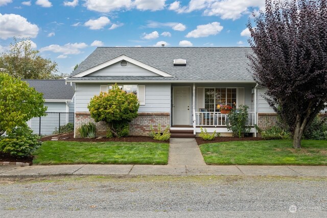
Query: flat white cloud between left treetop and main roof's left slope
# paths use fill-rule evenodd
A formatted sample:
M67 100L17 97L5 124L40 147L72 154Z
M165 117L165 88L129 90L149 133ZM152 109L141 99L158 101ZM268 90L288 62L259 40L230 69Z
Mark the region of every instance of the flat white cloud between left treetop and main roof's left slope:
M63 55L77 55L81 53L81 49L85 49L87 44L81 43L67 43L65 45L51 44L49 46L42 47L40 52L54 52L62 53Z

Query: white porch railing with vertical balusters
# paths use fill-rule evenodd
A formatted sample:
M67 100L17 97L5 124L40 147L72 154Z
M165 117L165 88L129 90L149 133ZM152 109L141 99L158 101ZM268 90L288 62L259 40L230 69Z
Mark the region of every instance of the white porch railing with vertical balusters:
M229 124L228 114L221 112L195 112L196 126L225 127ZM254 126L254 112L248 112L247 126Z

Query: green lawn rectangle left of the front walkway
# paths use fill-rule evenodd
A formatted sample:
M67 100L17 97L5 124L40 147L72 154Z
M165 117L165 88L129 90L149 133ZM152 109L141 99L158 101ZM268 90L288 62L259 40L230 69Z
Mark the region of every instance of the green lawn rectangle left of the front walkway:
M45 141L33 164L167 164L168 143Z

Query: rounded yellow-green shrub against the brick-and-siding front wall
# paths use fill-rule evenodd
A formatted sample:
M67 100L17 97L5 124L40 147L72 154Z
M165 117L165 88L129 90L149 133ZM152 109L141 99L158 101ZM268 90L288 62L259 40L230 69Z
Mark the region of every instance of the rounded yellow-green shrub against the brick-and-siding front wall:
M139 103L133 93L126 93L117 84L112 86L108 92L101 92L94 96L88 110L95 122L104 121L115 137L119 137L118 129L124 129L121 124L131 122L138 116Z

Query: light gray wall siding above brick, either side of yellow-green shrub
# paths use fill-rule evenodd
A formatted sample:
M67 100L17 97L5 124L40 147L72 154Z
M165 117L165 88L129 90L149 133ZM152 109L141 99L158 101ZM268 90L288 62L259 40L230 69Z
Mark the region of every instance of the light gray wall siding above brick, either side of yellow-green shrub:
M98 83L76 84L76 112L87 112L87 105L94 95L99 95ZM145 85L145 105L139 106L139 112L170 112L171 85L170 84L139 84Z

